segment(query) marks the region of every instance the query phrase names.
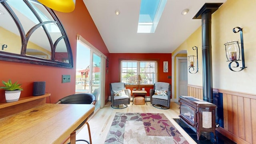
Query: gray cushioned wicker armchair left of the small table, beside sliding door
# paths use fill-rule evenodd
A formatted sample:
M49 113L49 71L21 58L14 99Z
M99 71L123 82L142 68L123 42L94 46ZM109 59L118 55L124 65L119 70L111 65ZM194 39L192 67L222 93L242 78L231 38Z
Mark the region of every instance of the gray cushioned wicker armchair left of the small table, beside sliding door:
M126 108L127 105L130 104L129 91L125 89L125 84L123 82L111 83L110 93L111 93L112 108L122 109L122 108ZM124 104L125 106L122 108L119 108L120 104Z

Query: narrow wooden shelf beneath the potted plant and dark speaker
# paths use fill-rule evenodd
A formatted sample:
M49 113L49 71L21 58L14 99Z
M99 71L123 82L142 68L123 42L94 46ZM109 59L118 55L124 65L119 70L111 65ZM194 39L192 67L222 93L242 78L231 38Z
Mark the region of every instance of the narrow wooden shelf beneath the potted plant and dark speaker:
M25 102L30 102L32 100L38 100L38 99L41 99L41 98L46 98L46 97L48 97L50 95L51 95L50 93L46 93L46 94L44 94L42 96L27 96L27 97L19 98L19 100L16 101L16 102L0 103L0 108L6 108L6 107L9 107L9 106L14 106L14 105L17 105L17 104L22 104L22 103L25 103Z

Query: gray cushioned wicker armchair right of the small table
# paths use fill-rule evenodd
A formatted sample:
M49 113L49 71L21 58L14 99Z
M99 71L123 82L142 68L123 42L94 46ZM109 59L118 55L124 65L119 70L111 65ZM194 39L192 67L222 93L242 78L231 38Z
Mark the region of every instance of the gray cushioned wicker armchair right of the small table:
M156 82L150 89L150 103L155 108L169 109L171 100L171 85L167 82ZM164 106L164 107L163 107Z

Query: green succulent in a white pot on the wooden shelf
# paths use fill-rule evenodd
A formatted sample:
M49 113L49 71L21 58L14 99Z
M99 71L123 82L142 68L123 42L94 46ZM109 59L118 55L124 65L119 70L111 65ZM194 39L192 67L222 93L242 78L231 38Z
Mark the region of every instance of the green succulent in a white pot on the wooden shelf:
M18 81L12 83L11 80L8 80L8 82L2 80L2 83L4 86L1 86L0 88L5 90L6 102L18 101L20 98L20 92L23 90L23 88L20 86L21 84L18 84Z

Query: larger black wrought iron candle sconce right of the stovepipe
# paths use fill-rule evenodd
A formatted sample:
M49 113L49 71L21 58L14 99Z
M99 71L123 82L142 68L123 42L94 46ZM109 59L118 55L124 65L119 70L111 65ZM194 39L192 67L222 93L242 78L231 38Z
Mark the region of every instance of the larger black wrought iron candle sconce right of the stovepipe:
M236 31L236 28L238 29L238 31ZM247 68L245 66L244 63L244 40L243 40L243 31L242 28L240 27L235 27L233 28L233 32L237 33L240 32L240 39L241 39L241 48L239 46L239 42L238 41L233 41L233 42L227 42L225 43L225 50L226 50L226 57L227 57L227 62L230 62L228 67L230 70L234 71L234 72L240 72L242 70L244 70L244 68ZM240 60L240 56L242 57L242 67L240 67L240 70L233 70L232 68L238 68L239 67L239 63L238 61ZM231 67L232 63L235 63L236 66Z

